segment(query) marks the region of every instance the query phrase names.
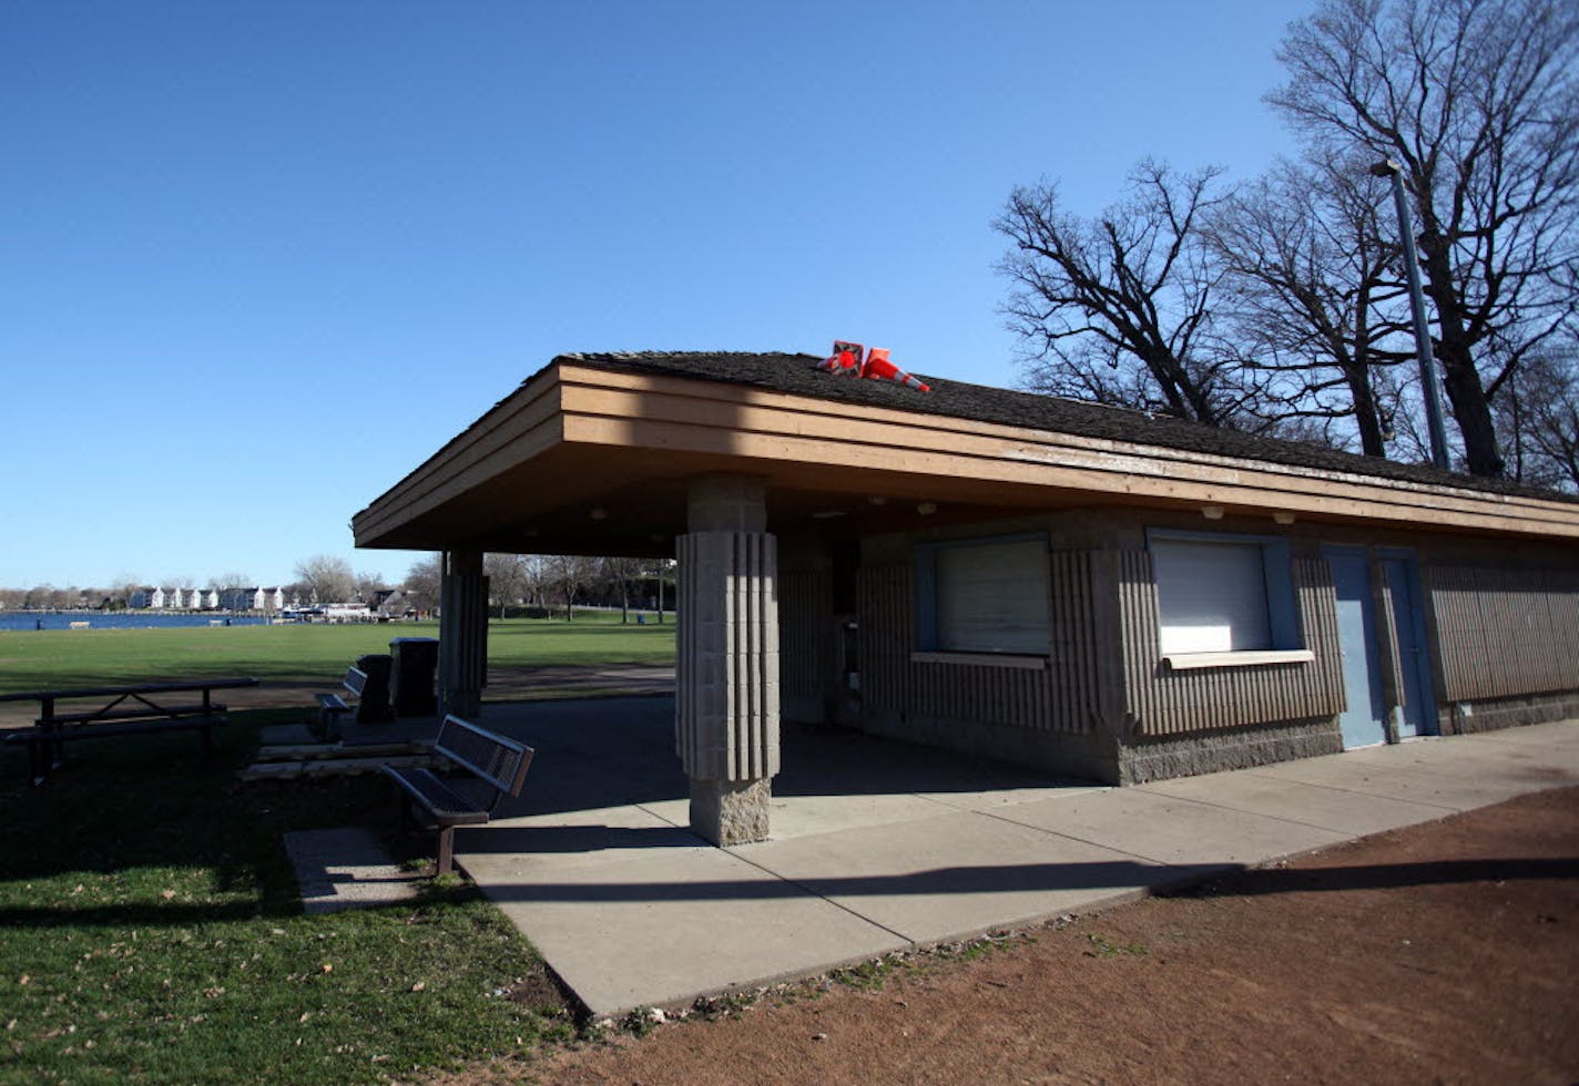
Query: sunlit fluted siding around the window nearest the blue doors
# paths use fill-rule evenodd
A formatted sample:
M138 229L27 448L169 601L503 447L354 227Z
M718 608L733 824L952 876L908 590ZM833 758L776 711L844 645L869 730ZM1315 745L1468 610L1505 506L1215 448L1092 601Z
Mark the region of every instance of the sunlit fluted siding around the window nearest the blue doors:
M1162 663L1151 554L1123 551L1118 562L1126 712L1138 734L1178 736L1342 712L1336 595L1326 562L1293 562L1304 647L1314 661L1198 671Z

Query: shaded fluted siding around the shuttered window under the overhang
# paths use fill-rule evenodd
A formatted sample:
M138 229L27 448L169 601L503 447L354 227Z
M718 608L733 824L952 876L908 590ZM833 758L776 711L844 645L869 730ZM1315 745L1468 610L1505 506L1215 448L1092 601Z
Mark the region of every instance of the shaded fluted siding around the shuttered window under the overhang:
M857 592L865 704L910 717L988 721L1036 731L1090 731L1101 680L1091 556L1053 554L1050 573L1053 636L1048 666L1031 671L911 661L916 646L914 570L910 565L864 567Z

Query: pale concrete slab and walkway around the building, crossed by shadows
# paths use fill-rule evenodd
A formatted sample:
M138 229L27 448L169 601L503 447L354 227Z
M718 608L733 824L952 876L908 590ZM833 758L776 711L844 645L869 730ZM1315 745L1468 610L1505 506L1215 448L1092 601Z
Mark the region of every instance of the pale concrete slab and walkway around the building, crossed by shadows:
M1124 789L794 732L774 840L717 849L685 829L669 706L489 707L485 723L538 759L513 816L456 838L464 870L598 1015L1088 912L1579 781L1579 721Z

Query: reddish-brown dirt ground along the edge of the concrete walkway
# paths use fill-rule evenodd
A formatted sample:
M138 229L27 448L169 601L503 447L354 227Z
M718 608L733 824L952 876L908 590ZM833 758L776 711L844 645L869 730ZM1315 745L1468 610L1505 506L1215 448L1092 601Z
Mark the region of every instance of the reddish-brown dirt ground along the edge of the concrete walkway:
M447 1083L1573 1083L1579 788Z

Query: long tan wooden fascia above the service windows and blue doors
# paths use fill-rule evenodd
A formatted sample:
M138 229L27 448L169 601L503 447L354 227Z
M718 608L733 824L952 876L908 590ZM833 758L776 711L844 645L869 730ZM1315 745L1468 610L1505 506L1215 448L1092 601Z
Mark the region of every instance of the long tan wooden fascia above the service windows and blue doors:
M652 445L813 464L859 459L861 451L892 456L903 450L903 466L867 466L1132 500L1153 497L1579 537L1579 507L1524 496L1127 445L668 376L565 366L562 385L568 444ZM717 420L709 423L709 415Z

